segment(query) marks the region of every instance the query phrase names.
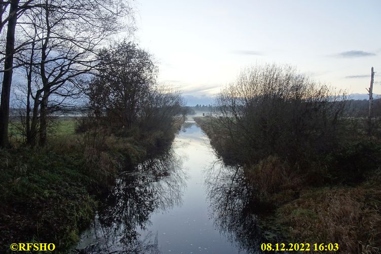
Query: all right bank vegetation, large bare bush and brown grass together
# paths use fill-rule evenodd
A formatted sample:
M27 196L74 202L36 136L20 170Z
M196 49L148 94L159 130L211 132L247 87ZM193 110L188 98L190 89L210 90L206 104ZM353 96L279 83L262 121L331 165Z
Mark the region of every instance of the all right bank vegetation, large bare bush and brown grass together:
M225 163L244 168L254 202L274 208L264 229L378 253L381 115L369 124L345 98L290 66L254 66L221 92L213 117L195 121Z

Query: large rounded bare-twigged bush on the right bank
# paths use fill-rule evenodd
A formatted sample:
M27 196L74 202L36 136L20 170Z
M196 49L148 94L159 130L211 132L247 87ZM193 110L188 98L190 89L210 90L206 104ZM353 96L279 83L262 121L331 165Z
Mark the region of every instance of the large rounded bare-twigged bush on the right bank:
M219 94L213 124L241 163L277 155L308 164L338 146L344 98L293 67L254 66Z

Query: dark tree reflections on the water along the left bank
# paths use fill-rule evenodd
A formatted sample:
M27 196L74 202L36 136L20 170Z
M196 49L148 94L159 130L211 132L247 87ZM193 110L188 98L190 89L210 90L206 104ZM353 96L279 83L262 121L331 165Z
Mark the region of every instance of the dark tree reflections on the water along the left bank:
M98 210L91 230L97 244L94 252L157 253L157 235L143 240L150 214L182 202L186 174L183 161L172 150L123 172ZM89 251L91 252L91 251Z

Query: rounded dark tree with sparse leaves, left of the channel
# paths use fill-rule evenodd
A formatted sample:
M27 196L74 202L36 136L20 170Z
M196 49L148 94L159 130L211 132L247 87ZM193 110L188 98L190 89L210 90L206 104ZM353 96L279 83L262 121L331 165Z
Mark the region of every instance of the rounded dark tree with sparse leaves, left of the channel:
M102 69L89 85L90 102L105 109L118 127L129 129L148 103L157 67L148 52L126 41L103 50L100 64Z

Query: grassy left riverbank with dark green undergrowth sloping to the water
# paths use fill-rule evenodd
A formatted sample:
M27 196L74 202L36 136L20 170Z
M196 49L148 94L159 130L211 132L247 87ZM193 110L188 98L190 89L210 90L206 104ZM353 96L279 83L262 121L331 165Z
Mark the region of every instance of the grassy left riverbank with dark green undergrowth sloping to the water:
M0 252L10 252L11 243L54 243L54 252L64 253L117 173L165 148L181 123L166 133L102 136L101 149L86 146L89 137L74 127L62 122L44 148L0 150Z

